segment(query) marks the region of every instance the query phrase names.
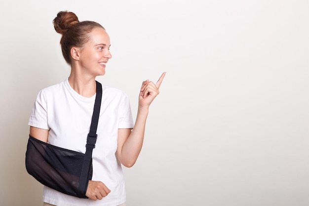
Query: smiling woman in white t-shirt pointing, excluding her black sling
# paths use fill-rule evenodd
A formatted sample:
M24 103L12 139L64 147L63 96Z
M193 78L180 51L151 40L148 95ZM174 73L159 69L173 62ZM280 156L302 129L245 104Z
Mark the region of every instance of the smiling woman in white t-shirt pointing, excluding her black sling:
M53 21L62 53L71 65L68 79L41 90L29 119L30 135L52 145L85 152L96 95L95 78L105 75L112 55L105 29L92 21L79 22L72 12L61 11ZM93 150L93 176L86 196L79 199L44 186L45 206L119 206L125 204L121 164L131 167L141 151L149 106L165 76L144 81L139 94L135 124L128 97L103 86L98 139Z

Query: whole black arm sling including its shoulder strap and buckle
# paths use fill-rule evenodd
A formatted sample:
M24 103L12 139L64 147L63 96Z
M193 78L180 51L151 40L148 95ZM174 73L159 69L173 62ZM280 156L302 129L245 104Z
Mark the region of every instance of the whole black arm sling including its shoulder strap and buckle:
M41 184L61 193L87 198L85 194L92 178L92 150L97 140L101 100L102 84L96 81L96 98L85 154L42 142L29 135L26 151L29 174Z

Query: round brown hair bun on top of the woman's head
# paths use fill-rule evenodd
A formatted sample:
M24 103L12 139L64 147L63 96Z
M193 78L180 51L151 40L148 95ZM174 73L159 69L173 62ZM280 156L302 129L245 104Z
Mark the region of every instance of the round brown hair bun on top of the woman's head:
M70 11L60 11L53 20L56 32L62 35L78 22L77 15Z

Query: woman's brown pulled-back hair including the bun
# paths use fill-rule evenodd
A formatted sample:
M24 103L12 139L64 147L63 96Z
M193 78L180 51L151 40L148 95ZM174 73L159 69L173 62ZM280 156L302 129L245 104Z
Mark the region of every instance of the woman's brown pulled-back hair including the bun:
M89 33L94 28L102 28L100 24L93 21L79 22L77 15L69 11L60 11L53 20L57 33L62 34L60 44L62 55L66 62L71 65L71 48L82 47L89 40Z

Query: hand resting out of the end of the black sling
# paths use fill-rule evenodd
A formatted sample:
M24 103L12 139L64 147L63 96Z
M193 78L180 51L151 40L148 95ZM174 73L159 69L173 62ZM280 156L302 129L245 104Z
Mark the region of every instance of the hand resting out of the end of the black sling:
M111 190L103 182L89 180L86 196L91 200L102 200L110 192Z

